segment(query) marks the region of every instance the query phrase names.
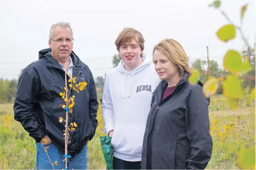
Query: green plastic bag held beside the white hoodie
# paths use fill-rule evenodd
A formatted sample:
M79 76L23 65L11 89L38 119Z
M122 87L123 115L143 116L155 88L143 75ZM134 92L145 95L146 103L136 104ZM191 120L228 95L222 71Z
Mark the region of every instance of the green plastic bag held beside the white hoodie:
M99 136L99 138L100 138L102 153L107 165L107 170L113 170L113 155L112 155L112 147L111 147L112 137Z

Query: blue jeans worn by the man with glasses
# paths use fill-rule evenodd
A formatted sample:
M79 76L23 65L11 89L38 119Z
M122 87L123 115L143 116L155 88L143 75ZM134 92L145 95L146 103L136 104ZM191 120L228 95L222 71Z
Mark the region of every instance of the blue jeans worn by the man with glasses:
M48 147L47 154L51 159L51 162L55 170L65 169L65 162L63 155L64 151L59 150L53 143L43 145L45 148ZM36 169L37 170L52 170L52 165L47 156L41 143L36 143ZM68 170L87 170L87 144L84 146L82 151L74 157L68 158ZM57 161L57 164L55 164Z

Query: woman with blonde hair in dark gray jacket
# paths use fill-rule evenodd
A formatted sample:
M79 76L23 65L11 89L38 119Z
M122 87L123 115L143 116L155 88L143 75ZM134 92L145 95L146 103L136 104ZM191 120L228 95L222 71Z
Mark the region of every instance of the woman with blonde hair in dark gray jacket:
M186 53L173 39L153 50L161 82L153 93L142 147L141 169L205 169L212 153L209 99L192 85Z

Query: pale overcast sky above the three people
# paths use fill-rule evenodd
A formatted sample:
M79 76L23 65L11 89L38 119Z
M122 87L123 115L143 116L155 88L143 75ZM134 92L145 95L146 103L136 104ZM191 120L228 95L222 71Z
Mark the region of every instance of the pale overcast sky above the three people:
M115 40L124 27L139 30L145 38L145 54L160 40L180 42L190 60L216 60L228 49L242 51L240 34L222 43L215 32L227 24L220 11L209 8L213 0L1 0L0 2L0 77L17 78L21 68L38 60L38 51L48 48L53 23L70 22L74 49L93 72L104 75L117 53ZM231 20L240 24L240 8L248 3L243 31L251 45L255 42L255 0L222 0Z

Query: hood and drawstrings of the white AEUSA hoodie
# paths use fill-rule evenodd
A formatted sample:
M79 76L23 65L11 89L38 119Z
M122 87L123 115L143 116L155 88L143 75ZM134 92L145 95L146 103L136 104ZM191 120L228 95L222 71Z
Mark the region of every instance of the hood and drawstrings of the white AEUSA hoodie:
M127 76L128 76L128 75L133 76L133 77L132 77L132 83L131 83L131 85L130 85L130 87L129 87L129 89L128 89L128 90L129 90L128 97L130 97L130 96L131 96L131 88L132 88L132 85L133 85L133 83L134 83L134 75L139 74L139 73L142 72L145 68L147 68L149 65L152 64L152 61L149 60L145 55L142 55L141 59L143 60L143 62L142 62L138 67L134 68L134 69L131 70L131 71L127 71L127 70L124 69L124 62L123 62L122 59L121 59L121 61L118 63L118 65L117 65L117 67L116 67L117 70L118 70L120 73L122 73L122 74L125 75L125 81L124 81L124 88L123 88L122 98L125 98L125 91L126 91L126 88L127 88L127 87L126 87L126 85L127 85Z

